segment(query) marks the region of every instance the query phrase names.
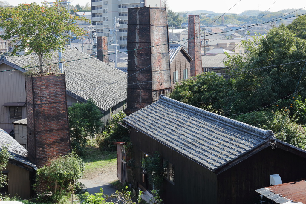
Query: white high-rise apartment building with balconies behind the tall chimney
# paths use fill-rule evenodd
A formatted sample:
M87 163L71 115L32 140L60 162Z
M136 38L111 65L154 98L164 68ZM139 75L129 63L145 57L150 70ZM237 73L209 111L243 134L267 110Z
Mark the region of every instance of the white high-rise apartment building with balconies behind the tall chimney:
M161 6L161 0L91 0L91 16L96 26L97 36L108 36L108 41L114 39L114 18L117 21L118 49L127 49L128 40L128 7ZM109 50L114 46L109 46Z

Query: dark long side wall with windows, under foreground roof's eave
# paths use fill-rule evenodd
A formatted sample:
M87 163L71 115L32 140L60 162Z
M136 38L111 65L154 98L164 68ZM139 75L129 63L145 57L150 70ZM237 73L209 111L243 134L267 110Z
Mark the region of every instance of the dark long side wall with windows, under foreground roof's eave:
M140 150L147 154L158 151L162 158L174 165L174 185L164 180L161 197L165 204L169 203L217 203L217 181L215 173L197 164L189 158L159 143L155 139L131 130L133 144L133 159L135 165L140 167ZM141 169L135 171L136 184L149 187L142 182Z

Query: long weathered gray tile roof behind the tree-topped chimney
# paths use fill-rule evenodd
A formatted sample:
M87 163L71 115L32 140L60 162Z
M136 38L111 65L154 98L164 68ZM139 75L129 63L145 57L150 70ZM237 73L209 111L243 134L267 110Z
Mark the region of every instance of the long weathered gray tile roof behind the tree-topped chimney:
M66 90L71 96L77 95L78 99L83 100L92 98L103 111L127 98L126 73L76 48L66 49L63 52L63 59L69 61L63 63L63 69L66 72ZM14 64L14 68L39 65L36 54L6 57L6 61ZM58 57L55 53L52 62L57 61Z

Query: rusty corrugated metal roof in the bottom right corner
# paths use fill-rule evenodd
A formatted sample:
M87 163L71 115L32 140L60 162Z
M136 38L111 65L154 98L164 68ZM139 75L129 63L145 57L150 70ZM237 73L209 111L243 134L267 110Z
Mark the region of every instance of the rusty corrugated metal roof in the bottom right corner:
M256 192L279 204L306 204L306 181L300 180L285 184L278 184Z

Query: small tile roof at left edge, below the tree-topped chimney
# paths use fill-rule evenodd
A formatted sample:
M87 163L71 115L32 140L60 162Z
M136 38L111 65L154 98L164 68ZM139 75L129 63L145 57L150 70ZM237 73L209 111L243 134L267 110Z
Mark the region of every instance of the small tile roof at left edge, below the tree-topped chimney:
M28 160L28 150L22 147L15 139L13 139L4 130L0 129L0 149L3 145L9 145L9 153L12 154L13 160L19 161L36 169L35 164Z

